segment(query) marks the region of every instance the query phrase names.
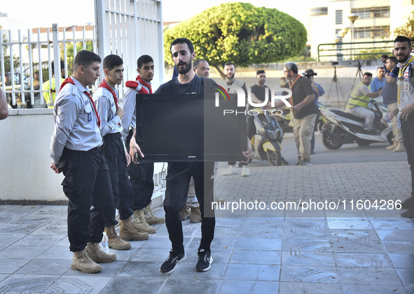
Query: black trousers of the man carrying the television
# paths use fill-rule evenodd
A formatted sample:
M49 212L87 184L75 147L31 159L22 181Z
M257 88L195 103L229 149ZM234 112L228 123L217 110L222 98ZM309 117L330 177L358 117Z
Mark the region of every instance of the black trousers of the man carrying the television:
M168 163L167 189L164 200L165 225L172 249L179 253L184 252L183 227L179 212L186 205L191 176L194 179L195 195L200 203L202 219L200 249L210 251L216 226L214 210L211 210L214 198L214 162Z

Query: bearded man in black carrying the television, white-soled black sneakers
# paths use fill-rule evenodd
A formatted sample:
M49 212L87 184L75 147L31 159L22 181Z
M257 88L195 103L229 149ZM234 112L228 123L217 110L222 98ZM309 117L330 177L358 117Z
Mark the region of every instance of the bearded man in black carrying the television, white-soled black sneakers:
M207 78L199 78L193 71L195 52L193 43L187 38L177 38L171 44L170 51L177 66L178 77L162 84L155 94L202 94ZM213 82L212 82L213 83ZM243 152L247 159L251 155L251 145L247 140L247 151ZM134 159L138 153L144 157L135 142L135 134L130 141L130 154ZM198 248L198 263L195 270L205 272L211 268L212 255L210 244L214 238L215 218L205 217L205 198L213 200L214 162L173 162L168 163L167 185L165 191L164 210L165 225L172 242L170 256L161 265L160 272L170 274L179 263L186 259L184 237L179 212L186 205L188 184L191 177L195 182L195 193L201 211L201 242Z

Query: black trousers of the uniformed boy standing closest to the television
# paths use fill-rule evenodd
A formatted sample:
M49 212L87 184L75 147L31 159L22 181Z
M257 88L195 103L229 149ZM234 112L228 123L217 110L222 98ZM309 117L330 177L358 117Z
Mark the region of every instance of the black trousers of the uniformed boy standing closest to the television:
M125 145L130 152L130 140L133 130L127 136ZM144 154L145 155L145 154ZM128 167L128 175L132 189L134 190L133 210L142 210L151 203L154 191L154 164L153 163L131 163Z

